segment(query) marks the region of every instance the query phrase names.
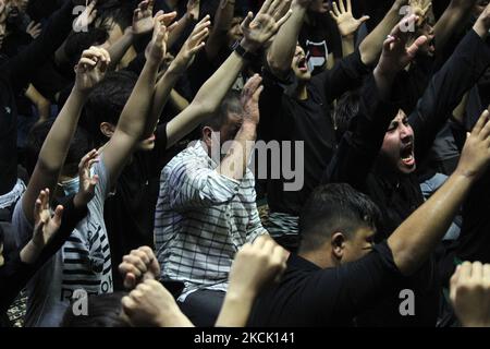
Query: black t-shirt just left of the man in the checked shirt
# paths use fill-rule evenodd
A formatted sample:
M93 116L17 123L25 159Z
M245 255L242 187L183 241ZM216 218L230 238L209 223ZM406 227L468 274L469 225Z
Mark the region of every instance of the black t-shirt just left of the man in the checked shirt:
M131 250L154 245L154 219L160 171L167 160L167 124L156 132L155 148L137 152L118 179L114 195L105 204L105 220L112 258L114 289L122 289L118 266Z

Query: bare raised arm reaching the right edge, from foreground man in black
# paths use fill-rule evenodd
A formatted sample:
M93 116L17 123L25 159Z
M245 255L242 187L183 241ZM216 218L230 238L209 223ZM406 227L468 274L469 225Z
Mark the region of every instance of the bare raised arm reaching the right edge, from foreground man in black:
M399 269L409 275L433 252L458 212L471 185L490 165L490 112L486 110L463 148L454 173L412 214L388 244Z

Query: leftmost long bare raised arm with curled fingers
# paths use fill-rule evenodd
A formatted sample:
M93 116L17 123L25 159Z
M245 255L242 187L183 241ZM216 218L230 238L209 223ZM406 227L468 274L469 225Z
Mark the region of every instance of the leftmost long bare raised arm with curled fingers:
M42 144L27 190L22 197L22 207L30 224L34 222L32 207L40 190L48 188L54 191L83 106L91 88L103 79L109 62L109 53L100 48L91 47L82 55L76 68L75 86Z

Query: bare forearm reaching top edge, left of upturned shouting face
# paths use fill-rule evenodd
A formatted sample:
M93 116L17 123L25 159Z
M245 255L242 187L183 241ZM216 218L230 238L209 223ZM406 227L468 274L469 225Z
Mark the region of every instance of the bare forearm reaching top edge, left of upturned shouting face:
M293 1L291 9L293 14L281 27L267 53L267 62L275 75L282 75L291 69L307 5Z

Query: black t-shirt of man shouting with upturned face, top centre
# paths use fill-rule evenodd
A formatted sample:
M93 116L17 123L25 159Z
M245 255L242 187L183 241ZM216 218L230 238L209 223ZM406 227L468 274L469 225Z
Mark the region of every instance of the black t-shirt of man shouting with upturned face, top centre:
M293 180L286 179L287 176L284 174L287 173L283 171L279 179L274 179L273 172L268 174L267 193L271 212L299 215L303 204L319 184L322 172L335 149L331 104L346 91L360 86L363 76L367 72L368 68L363 64L359 53L354 52L340 60L333 69L314 76L307 85L306 100L298 100L291 96L290 92L297 83L292 72L289 80L283 82L267 70L264 72L265 89L259 101L259 140L303 142L304 145L304 153L296 156L295 145L301 143L293 144L290 152L282 146L283 154L281 159L278 159L281 166L272 168L277 171L295 167L298 176L303 176L301 171L304 170L304 185L301 190L284 190L284 183L297 181L297 177ZM295 166L296 161L297 166Z

